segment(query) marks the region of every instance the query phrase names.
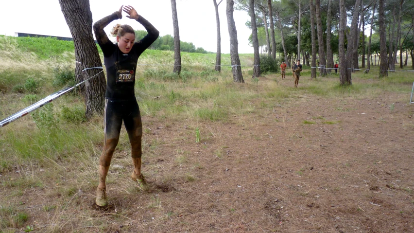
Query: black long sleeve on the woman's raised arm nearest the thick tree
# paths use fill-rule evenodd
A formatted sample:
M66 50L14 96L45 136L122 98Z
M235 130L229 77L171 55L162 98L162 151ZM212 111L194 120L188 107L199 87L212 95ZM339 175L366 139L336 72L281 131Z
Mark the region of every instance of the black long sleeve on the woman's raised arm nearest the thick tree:
M116 45L109 40L108 36L104 31L104 27L106 27L110 22L114 21L115 19L121 18L120 13L118 11L112 13L107 17L102 18L101 20L97 21L93 24L93 32L95 33L96 41L98 41L99 46L104 53L104 56L110 56L116 49Z

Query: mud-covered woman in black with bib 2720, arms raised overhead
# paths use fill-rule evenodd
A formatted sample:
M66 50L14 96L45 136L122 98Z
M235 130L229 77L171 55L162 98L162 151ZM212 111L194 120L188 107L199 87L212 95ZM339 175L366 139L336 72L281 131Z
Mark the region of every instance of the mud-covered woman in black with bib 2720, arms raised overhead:
M132 6L125 6L123 11L129 15L126 17L135 19L142 24L148 35L135 41L135 32L131 26L117 24L112 33L117 36L118 43L112 43L106 36L104 27L113 20L122 18L122 7L119 11L93 25L96 40L104 53L107 75L104 110L105 144L99 161L99 185L96 195L98 206L108 204L105 179L112 155L119 141L122 121L131 143L131 156L134 164L131 178L138 181L141 187L146 187L144 177L141 174L142 123L134 91L135 73L139 55L158 38L159 32L145 18L138 15Z

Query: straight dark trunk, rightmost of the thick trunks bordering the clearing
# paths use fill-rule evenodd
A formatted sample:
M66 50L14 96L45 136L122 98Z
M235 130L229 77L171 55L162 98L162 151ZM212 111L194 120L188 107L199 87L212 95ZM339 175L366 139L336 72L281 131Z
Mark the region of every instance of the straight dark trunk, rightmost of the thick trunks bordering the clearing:
M385 16L384 16L384 2L385 0L379 0L379 26L380 26L380 77L388 76L388 63L387 63L387 42L385 35Z

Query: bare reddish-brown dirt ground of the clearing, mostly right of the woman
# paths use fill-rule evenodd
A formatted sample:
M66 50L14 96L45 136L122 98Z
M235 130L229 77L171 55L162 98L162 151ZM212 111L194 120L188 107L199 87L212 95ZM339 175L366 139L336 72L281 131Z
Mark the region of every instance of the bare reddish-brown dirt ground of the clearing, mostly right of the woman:
M293 77L286 75L279 83L293 87ZM90 185L59 210L60 217L67 217L59 228L108 233L414 232L414 105L406 103L407 93L338 100L308 95L300 87L299 82L295 97L284 102L253 99L255 110L249 114L199 123L199 143L194 122L143 117L142 171L150 189L134 186L132 164L111 168L110 206L96 206L95 186ZM129 153L117 150L112 165L128 160ZM11 176L13 172L3 174ZM25 200L22 208L30 207L25 224L39 232L50 227L58 208L47 213L31 207L59 199L49 192L34 187L16 197ZM85 226L88 218L103 219L104 227Z

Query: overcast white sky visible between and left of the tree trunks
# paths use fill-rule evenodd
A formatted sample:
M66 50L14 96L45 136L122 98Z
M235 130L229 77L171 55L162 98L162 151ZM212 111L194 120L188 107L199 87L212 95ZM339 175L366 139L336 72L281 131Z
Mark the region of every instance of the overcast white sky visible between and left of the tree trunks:
M219 2L220 0L217 0ZM132 5L160 32L160 36L173 36L171 0L90 0L93 22L117 11L121 5ZM176 0L180 40L192 42L195 47L203 47L216 52L216 14L212 0ZM226 0L219 5L222 53L230 53L230 41L225 15ZM110 23L105 31L109 33L115 23L129 24L136 30L145 30L137 21L126 18ZM248 45L252 31L245 26L250 20L247 12L234 11L234 20L239 39L239 53L253 54ZM1 0L0 35L13 36L15 32L39 35L71 37L69 27L60 9L58 0Z

